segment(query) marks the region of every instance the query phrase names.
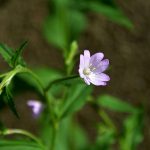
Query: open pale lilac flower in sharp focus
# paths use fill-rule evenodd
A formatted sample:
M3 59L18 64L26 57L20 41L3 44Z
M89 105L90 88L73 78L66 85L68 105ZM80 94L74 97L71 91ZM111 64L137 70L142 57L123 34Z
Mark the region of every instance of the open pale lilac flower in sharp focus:
M102 60L103 57L104 54L100 52L90 56L88 50L84 50L84 55L80 55L79 74L87 85L92 83L104 86L110 80L109 76L103 73L109 66L109 60Z

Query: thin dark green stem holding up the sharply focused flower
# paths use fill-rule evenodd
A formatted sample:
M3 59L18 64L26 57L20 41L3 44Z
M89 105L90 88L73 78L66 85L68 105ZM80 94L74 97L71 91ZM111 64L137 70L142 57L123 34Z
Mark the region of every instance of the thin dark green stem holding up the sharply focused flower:
M71 79L74 79L74 78L78 78L79 76L78 75L74 75L74 76L69 76L69 77L64 77L64 78L61 78L61 79L56 79L52 82L50 82L48 84L48 86L45 88L45 91L48 92L48 90L54 85L54 84L57 84L59 82L63 82L63 81L66 81L66 80L71 80Z

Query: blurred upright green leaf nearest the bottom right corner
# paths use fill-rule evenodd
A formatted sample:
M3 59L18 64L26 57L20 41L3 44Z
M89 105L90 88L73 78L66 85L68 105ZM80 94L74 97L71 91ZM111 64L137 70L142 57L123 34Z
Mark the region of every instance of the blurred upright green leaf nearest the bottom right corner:
M143 140L143 112L133 113L124 121L123 136L120 140L120 150L136 150Z

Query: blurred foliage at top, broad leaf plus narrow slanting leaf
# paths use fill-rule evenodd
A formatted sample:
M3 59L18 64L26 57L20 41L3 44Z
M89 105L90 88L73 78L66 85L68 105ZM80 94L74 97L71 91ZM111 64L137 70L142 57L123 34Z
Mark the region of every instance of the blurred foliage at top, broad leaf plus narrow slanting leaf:
M109 20L128 29L133 24L113 0L52 0L50 13L44 22L47 40L67 53L72 41L78 40L86 29L88 12L104 15Z

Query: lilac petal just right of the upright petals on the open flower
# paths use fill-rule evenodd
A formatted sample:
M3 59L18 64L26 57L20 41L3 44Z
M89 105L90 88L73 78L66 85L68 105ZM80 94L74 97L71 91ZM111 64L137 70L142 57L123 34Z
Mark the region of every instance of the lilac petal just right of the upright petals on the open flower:
M104 57L103 53L96 53L92 55L90 59L90 65L94 68L97 68L98 64L101 62L103 57Z

